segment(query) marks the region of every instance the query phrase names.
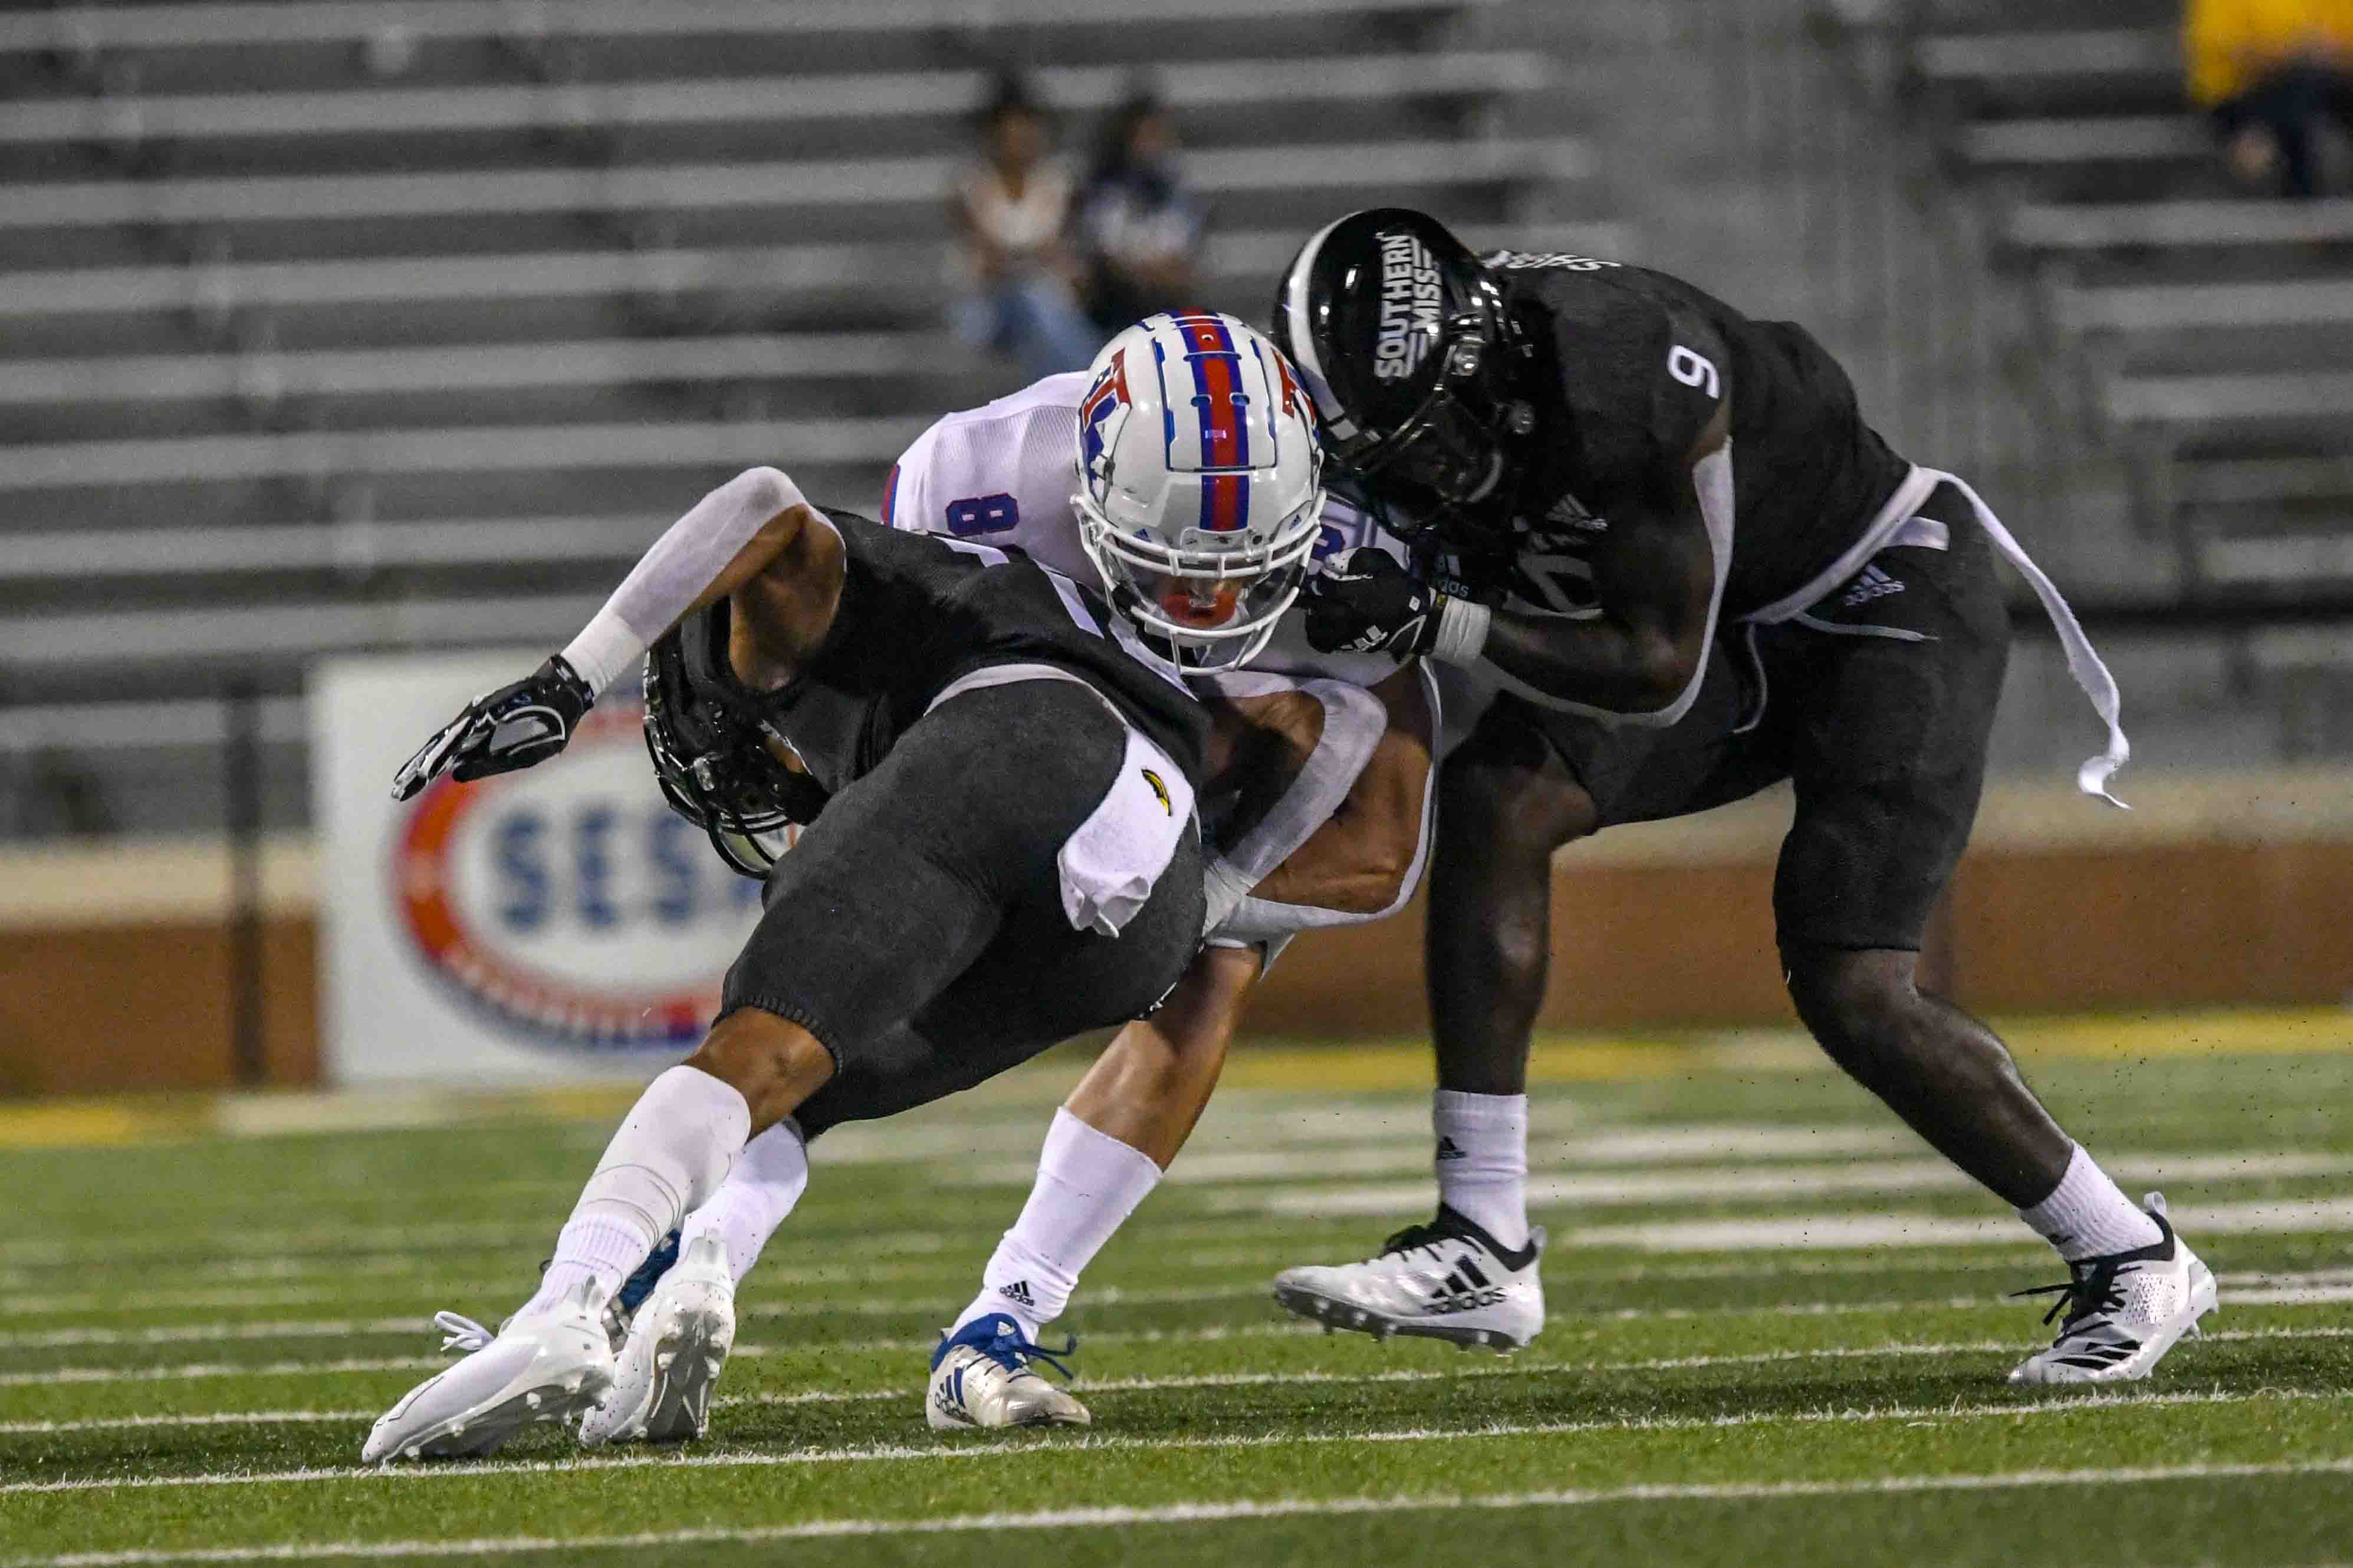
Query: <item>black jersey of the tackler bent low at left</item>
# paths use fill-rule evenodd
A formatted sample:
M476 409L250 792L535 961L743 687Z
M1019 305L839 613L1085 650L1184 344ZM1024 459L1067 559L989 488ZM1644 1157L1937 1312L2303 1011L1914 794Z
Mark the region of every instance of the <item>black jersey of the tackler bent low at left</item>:
M842 599L800 675L779 691L744 686L727 661L729 604L720 599L654 644L654 684L718 708L713 717L732 719L718 731L781 741L835 795L873 771L953 682L991 665L1052 665L1111 698L1200 776L1207 715L1176 679L1129 658L1104 604L1071 578L1019 550L821 510L842 538Z

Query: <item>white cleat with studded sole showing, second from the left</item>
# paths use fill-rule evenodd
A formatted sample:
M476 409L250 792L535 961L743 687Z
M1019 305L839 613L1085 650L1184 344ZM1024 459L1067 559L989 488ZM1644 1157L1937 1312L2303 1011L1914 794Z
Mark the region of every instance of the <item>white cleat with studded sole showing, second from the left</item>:
M612 1392L581 1420L581 1441L685 1443L711 1425L711 1389L734 1349L727 1244L699 1237L638 1305L612 1361Z

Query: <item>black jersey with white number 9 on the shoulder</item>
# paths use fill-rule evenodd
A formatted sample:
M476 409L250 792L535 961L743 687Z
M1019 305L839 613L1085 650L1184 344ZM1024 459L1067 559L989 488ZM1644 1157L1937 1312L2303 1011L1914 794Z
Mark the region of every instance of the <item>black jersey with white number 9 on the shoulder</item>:
M1753 322L1649 268L1482 256L1537 346L1534 458L1515 505L1515 592L1579 609L1581 557L1612 503L1647 489L1732 400L1734 534L1722 616L1814 581L1911 465L1864 423L1854 383L1795 322Z

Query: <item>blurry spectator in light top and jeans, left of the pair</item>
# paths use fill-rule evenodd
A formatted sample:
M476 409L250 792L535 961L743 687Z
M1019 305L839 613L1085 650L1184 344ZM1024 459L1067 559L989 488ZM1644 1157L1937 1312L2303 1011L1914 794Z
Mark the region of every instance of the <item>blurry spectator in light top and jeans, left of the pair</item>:
M960 336L1009 353L1033 381L1087 369L1099 334L1078 308L1066 228L1071 176L1049 158L1052 129L1019 78L1005 75L979 118L981 155L955 176L948 216L969 294Z

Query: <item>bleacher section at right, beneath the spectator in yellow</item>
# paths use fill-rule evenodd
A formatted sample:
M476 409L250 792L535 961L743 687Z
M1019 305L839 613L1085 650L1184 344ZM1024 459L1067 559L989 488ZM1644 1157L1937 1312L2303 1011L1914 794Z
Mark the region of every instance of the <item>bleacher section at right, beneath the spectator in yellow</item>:
M2231 190L2169 0L1922 7L1913 80L1951 165L2134 463L2188 595L2341 592L2353 510L2353 200Z

